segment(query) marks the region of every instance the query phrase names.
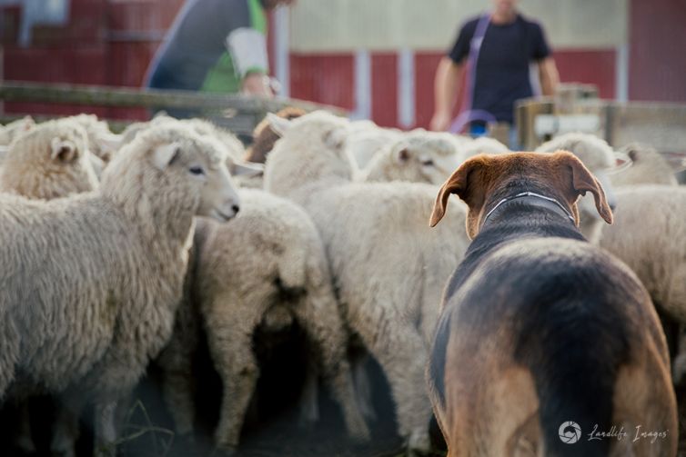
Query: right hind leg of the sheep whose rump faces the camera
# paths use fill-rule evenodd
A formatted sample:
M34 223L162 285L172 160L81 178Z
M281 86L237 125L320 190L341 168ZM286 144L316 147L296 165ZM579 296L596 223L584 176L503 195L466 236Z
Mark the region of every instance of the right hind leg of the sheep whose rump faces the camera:
M369 429L358 405L348 364L348 335L344 331L336 302L328 301L314 292L306 300L303 306L296 306L298 322L308 333L308 339L318 348L318 363L328 389L343 410L348 434L356 440L368 441ZM323 313L327 304L332 309Z

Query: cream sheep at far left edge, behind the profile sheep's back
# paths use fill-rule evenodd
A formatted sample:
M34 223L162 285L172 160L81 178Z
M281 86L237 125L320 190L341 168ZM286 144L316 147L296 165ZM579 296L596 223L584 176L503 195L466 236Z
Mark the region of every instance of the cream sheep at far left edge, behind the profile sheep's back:
M53 199L97 188L86 131L71 120L36 125L8 146L0 192Z

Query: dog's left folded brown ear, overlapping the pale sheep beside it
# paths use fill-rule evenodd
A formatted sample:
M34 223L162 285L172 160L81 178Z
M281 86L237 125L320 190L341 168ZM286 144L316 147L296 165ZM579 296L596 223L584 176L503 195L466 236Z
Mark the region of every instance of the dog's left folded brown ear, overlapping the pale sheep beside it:
M483 206L485 196L485 185L482 182L482 171L488 165L489 157L477 155L461 164L457 170L448 178L439 190L436 202L433 205L433 213L429 225L431 227L439 224L446 214L448 199L450 194L456 194L466 204L469 205L469 213L478 214L480 206ZM469 231L469 224L468 224Z

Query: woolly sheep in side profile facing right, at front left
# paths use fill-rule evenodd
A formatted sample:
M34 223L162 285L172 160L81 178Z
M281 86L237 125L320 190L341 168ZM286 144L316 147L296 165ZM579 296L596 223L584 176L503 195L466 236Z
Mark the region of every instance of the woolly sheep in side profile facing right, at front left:
M166 126L116 154L99 192L0 195L0 395L12 382L60 394L71 421L58 422L54 452L73 452L89 401L96 445L112 451L117 400L172 332L193 216L237 213L225 154Z

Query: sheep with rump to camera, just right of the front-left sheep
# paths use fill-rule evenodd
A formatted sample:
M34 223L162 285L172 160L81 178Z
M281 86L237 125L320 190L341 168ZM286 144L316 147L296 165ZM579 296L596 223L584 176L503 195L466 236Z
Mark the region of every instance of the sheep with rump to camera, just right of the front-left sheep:
M368 439L347 360L348 334L317 228L298 205L275 195L243 190L240 196L241 214L231 224L197 221L195 279L188 294L196 303L182 305L202 315L209 351L224 384L217 446L231 450L238 444L257 386L259 369L252 348L257 327L278 328L292 321L308 335L349 434ZM165 350L160 365L168 373L164 390L177 430L187 433L193 424L187 376L192 348L188 343L174 346Z

